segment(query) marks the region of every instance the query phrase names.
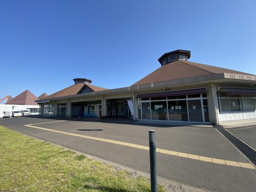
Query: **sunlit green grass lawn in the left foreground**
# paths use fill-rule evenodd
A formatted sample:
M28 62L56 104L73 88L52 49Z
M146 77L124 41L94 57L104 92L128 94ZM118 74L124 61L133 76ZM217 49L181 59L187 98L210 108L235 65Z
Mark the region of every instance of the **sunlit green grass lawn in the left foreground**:
M150 182L0 126L0 191L150 191Z

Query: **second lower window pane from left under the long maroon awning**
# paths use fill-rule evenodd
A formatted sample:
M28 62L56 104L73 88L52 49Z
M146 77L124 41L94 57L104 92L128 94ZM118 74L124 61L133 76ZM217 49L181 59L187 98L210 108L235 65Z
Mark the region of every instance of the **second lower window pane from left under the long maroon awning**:
M167 120L167 104L166 101L151 102L152 120Z

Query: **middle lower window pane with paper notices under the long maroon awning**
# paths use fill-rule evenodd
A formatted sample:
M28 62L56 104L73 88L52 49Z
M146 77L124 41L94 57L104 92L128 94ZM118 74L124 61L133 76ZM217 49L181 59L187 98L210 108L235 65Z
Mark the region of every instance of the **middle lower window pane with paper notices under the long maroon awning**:
M168 113L170 121L188 121L187 101L168 101Z

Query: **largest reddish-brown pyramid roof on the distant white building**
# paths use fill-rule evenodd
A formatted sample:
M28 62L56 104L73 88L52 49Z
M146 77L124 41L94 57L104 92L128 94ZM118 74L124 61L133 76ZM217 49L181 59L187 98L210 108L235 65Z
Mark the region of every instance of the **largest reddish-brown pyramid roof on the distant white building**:
M5 104L37 105L37 103L35 102L35 100L37 99L38 98L33 93L31 93L29 90L26 90L11 99L10 101L7 101Z

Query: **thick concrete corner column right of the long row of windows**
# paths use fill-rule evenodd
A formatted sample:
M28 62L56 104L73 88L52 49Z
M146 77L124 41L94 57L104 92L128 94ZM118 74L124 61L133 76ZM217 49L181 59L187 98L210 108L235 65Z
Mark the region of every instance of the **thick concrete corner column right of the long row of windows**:
M211 82L208 89L208 105L210 121L216 125L220 124L219 104L217 98L216 84Z

